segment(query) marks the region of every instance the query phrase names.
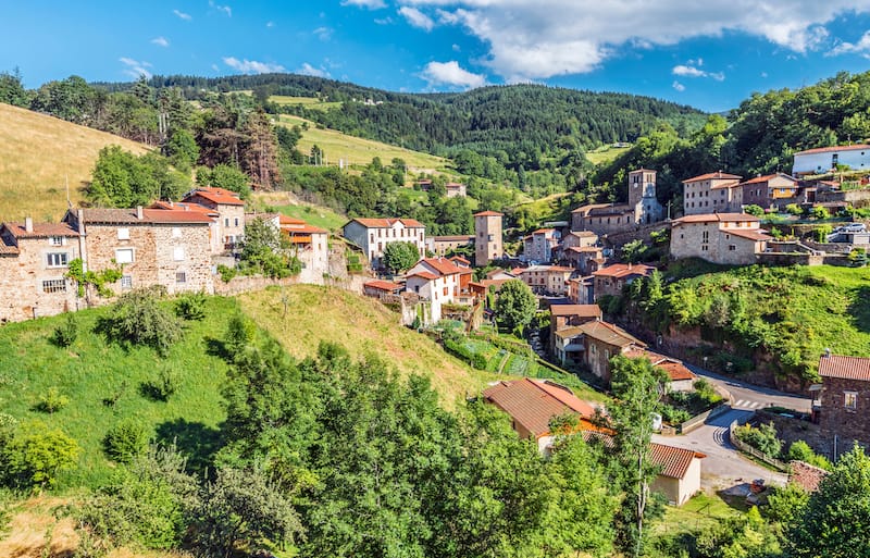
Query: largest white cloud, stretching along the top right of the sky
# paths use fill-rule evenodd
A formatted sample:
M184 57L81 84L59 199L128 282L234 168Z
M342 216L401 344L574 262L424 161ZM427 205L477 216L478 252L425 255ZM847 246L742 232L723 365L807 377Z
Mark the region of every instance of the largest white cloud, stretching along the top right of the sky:
M868 13L868 0L400 0L435 8L488 47L483 63L507 79L589 72L622 47L675 45L726 32L761 37L794 53L824 47L823 25ZM700 61L697 61L700 62ZM700 63L694 67L700 67Z

